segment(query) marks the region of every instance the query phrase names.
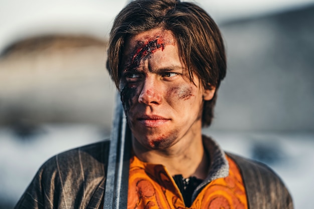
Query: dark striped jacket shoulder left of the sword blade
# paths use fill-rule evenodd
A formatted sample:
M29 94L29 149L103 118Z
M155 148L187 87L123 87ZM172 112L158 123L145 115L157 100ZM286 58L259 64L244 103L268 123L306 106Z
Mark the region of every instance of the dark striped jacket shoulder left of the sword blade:
M51 157L15 208L85 208L103 192L108 152L109 141L101 141Z

